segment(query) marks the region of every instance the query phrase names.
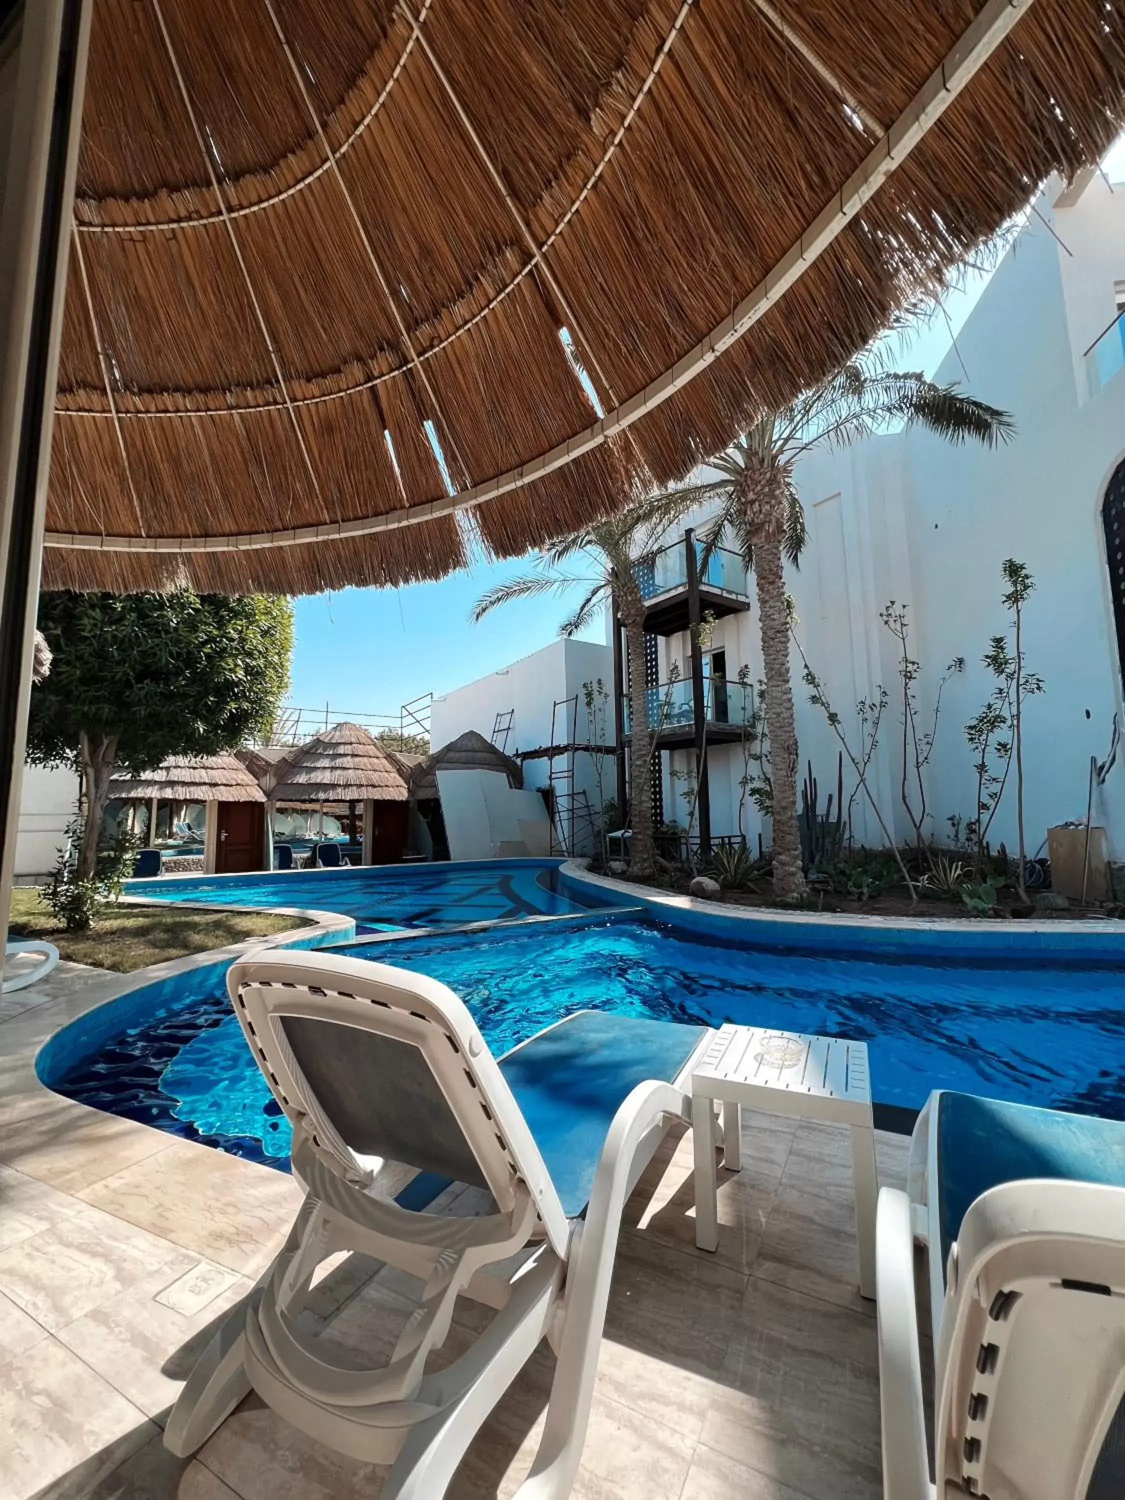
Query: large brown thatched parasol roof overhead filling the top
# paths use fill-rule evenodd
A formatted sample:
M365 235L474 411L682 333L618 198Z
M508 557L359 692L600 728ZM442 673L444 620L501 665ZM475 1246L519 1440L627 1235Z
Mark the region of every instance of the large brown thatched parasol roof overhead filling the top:
M98 0L46 584L436 578L464 506L522 552L838 366L1124 104L1116 0Z

